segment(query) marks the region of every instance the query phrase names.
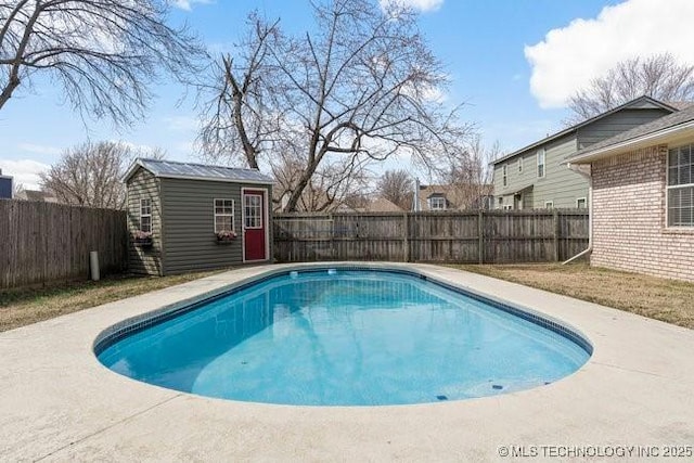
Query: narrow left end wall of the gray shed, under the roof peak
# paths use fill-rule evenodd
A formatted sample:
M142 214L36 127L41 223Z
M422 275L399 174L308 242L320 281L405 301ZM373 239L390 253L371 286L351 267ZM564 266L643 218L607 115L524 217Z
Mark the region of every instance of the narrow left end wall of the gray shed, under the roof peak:
M144 248L132 243L132 233L140 230L140 200L152 200L152 247ZM128 182L128 268L133 273L164 274L164 242L162 235L162 202L159 180L146 169L140 168Z

